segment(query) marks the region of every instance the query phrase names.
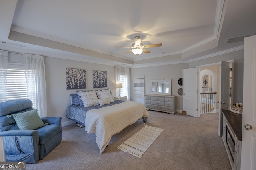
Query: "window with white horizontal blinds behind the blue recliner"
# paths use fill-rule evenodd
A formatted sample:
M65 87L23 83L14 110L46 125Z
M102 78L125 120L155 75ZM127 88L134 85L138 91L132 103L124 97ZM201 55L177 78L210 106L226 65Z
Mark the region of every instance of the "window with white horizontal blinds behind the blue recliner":
M24 69L8 68L6 73L6 87L4 87L6 90L6 97L0 98L0 102L29 98L32 101L33 106L36 106L35 88L31 86L28 87L28 81L35 82L34 70L29 70L25 73ZM34 96L29 95L28 92L31 92Z

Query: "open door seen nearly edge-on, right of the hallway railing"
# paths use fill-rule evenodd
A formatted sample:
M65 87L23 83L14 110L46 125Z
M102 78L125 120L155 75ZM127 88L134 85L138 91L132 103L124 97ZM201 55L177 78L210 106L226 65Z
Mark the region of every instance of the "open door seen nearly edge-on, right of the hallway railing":
M230 63L226 61L220 61L220 94L219 100L219 136L223 132L223 114L221 109L229 110L230 107Z

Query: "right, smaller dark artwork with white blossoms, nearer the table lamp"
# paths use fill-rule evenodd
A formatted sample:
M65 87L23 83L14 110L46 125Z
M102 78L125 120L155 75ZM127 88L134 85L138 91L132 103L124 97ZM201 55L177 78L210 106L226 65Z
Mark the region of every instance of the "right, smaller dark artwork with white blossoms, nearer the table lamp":
M106 71L92 71L93 74L93 88L102 88L108 86Z

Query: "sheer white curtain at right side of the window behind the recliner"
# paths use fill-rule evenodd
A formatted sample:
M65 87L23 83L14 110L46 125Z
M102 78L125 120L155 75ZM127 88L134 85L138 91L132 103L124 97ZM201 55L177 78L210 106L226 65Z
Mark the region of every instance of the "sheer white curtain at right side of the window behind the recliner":
M38 110L39 116L47 117L44 57L23 54L23 61L28 83L28 98L35 101L33 107Z

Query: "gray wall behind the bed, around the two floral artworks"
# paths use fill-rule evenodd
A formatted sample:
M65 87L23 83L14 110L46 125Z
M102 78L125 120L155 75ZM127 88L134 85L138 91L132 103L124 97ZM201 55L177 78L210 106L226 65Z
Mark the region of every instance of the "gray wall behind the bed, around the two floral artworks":
M114 66L102 64L86 63L81 61L73 61L66 59L58 59L53 57L45 57L44 59L46 70L46 96L47 96L47 112L48 117L60 116L62 122L69 121L66 118L66 110L70 105L70 94L76 93L77 89L66 90L66 68L79 68L86 70L86 90L93 90L92 71L100 70L107 71L108 87L112 96L116 96L114 84ZM95 88L100 90L106 88ZM85 89L82 89L85 90Z

